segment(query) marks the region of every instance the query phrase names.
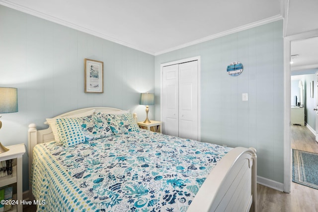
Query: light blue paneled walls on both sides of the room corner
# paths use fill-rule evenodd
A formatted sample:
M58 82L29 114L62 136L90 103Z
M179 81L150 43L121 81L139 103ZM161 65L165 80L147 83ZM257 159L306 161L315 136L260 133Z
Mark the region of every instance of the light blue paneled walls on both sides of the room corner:
M43 129L44 118L83 107L130 109L143 120L146 91L156 91L150 118L159 120L160 64L201 56L201 140L255 147L258 175L283 182L282 31L277 21L154 57L0 6L0 86L19 93L19 112L2 114L0 141L27 144L28 124ZM104 62L103 94L83 92L84 58ZM233 61L244 65L237 77L226 73Z

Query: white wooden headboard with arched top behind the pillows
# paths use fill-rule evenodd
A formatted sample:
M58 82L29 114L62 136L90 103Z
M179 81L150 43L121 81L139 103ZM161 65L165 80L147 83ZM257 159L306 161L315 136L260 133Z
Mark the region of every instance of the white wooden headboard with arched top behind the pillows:
M82 114L84 112L95 110L95 113L98 112L114 112L114 111L121 111L121 109L118 108L111 108L111 107L89 107L89 108L82 108L78 110L73 110L67 113L63 113L61 115L55 116L53 118L59 118L59 117L67 117L67 116L73 116L77 114ZM137 122L137 114L133 113L134 119ZM33 148L38 143L45 143L49 141L54 141L54 135L52 133L51 127L44 129L44 130L37 130L35 124L29 124L29 130L28 130L28 153L29 153L29 176L31 176L31 167L32 167L32 160L33 160ZM31 190L31 182L29 182L29 192L30 192L30 200L33 200L32 196L32 190Z

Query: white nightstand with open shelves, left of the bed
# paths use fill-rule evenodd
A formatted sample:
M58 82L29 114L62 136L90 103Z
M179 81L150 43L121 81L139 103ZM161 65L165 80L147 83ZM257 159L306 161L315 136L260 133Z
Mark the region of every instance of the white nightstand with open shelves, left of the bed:
M25 153L24 144L6 146L9 150L0 153L0 161L16 158L16 165L12 167L12 174L0 178L0 187L16 183L16 200L17 205L12 205L11 211L22 212L22 155ZM13 164L15 164L13 162ZM9 212L11 212L9 211Z

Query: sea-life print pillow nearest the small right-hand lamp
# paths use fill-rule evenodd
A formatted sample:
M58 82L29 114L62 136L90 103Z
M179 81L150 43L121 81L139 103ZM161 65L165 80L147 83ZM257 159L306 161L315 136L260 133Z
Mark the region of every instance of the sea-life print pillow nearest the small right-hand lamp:
M117 134L129 133L133 131L138 131L138 125L131 113L125 114L107 114L106 115L107 123L111 131Z

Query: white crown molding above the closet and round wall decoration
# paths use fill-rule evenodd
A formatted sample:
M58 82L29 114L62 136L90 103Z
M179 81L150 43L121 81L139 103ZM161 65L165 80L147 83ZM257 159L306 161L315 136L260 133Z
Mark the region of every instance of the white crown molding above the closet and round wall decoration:
M168 53L168 52L172 52L172 51L175 51L175 50L178 50L178 49L182 49L182 48L185 48L185 47L188 47L188 46L192 46L192 45L195 45L195 44L203 43L205 41L209 41L209 40L213 40L213 39L216 39L216 38L220 38L220 37L223 37L223 36L226 36L226 35L230 35L230 34L233 34L233 33L236 33L236 32L240 32L240 31L243 31L243 30L246 30L246 29L250 29L250 28L253 28L253 27L256 27L256 26L260 26L260 25L263 25L263 24L271 23L271 22L274 22L274 21L277 21L277 20L282 20L282 19L283 19L283 17L281 15L275 15L275 16L272 16L272 17L269 17L269 18L265 18L265 19L260 20L260 21L255 21L253 23L249 23L249 24L246 24L246 25L243 25L243 26L239 26L237 28L233 28L233 29L221 32L221 33L217 33L217 34L210 35L210 36L207 36L207 37L195 40L195 41L191 41L191 42L188 42L188 43L185 43L185 44L182 44L182 45L179 45L179 46L176 46L176 47L173 47L173 48L161 51L161 52L157 52L157 53L155 53L155 56L161 55L161 54L164 54L164 53Z

